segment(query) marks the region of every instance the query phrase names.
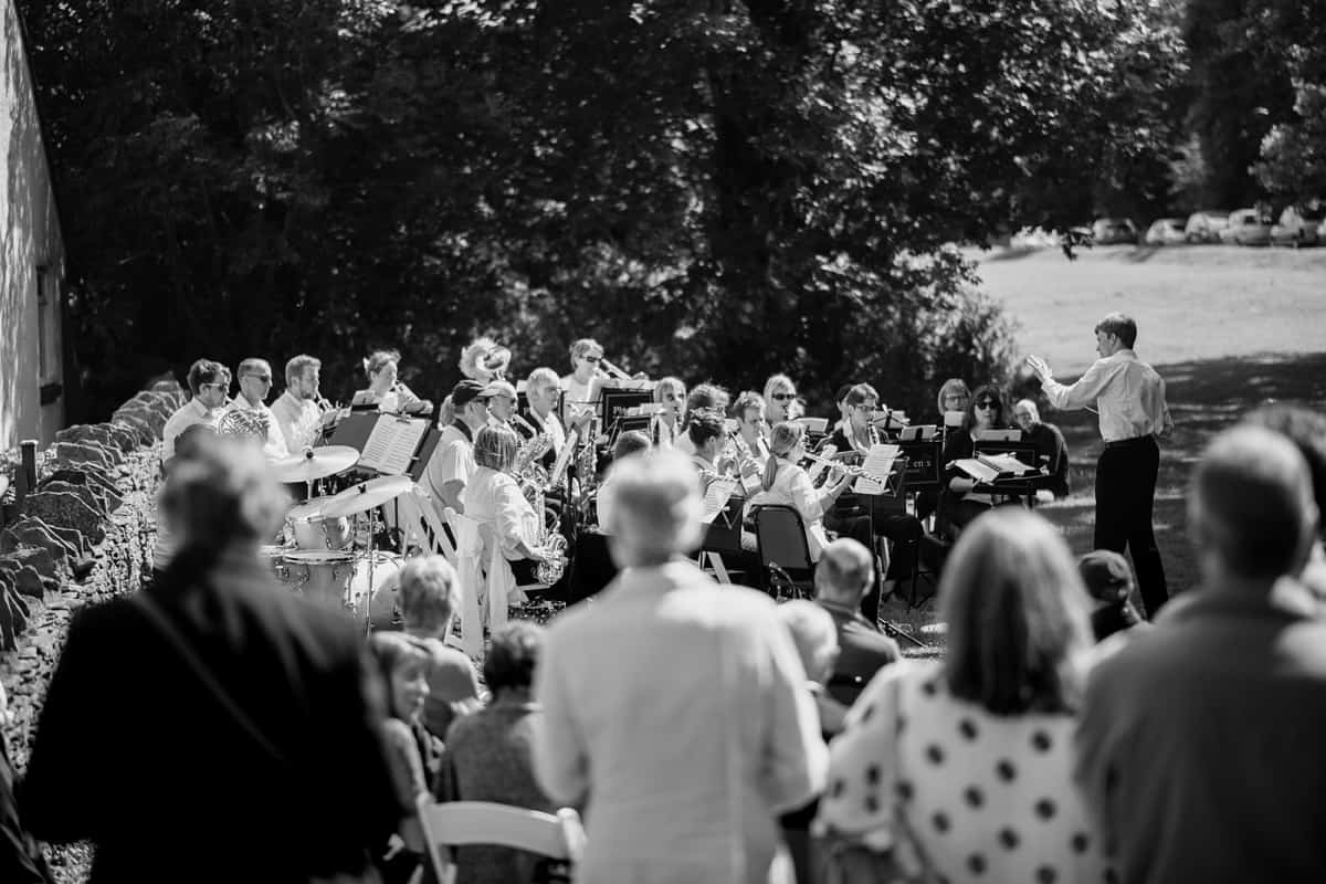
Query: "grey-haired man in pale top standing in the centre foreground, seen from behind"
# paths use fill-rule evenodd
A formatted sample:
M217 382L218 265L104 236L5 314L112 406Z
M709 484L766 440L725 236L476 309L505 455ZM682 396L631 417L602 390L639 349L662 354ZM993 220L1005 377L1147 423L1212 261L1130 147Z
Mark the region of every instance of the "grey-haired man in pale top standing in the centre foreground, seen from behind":
M686 457L626 457L607 493L622 573L552 622L534 688L534 773L591 803L577 881L762 884L777 814L823 786L805 669L769 596L684 558L704 527Z

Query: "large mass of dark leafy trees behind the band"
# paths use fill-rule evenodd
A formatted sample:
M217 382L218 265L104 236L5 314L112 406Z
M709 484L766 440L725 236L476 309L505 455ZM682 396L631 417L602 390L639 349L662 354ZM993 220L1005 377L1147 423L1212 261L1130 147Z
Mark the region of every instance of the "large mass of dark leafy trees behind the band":
M21 0L94 402L492 334L928 411L1010 338L947 243L1167 199L1143 0ZM1140 208L1138 209L1140 211Z

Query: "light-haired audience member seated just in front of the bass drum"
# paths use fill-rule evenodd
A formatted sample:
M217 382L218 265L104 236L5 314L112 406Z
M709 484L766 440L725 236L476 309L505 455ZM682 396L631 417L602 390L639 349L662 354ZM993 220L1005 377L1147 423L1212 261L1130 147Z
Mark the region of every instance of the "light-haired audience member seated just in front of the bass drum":
M460 607L456 570L440 555L416 555L400 569L400 618L406 635L428 649L423 725L440 738L459 716L479 708L479 675L468 656L447 645Z

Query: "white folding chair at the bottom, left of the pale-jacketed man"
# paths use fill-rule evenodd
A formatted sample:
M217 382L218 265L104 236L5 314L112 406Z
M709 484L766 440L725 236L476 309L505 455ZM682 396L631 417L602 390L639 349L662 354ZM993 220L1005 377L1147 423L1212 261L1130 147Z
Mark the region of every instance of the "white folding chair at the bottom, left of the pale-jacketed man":
M438 803L431 795L419 798L419 824L432 869L440 884L455 884L452 847L492 844L541 854L575 864L585 851L585 828L570 807L557 815L537 810L483 801Z

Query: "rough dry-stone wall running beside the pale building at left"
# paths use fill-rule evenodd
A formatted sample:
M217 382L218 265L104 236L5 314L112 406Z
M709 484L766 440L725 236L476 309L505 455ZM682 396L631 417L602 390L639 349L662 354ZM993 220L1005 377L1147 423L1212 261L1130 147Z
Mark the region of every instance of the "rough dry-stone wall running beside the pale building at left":
M5 737L20 769L69 619L85 604L133 592L151 569L160 432L184 398L179 384L160 382L107 423L60 431L38 452L37 486L7 508L0 681L15 713Z

